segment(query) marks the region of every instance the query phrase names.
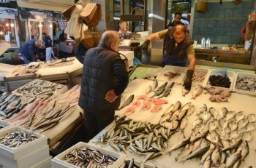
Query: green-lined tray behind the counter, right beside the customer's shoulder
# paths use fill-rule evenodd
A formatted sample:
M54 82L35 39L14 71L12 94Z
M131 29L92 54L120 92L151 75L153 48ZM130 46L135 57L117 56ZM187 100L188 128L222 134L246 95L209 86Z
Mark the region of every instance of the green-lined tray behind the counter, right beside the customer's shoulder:
M154 79L162 71L162 67L154 65L140 64L136 65L135 68L129 73L129 79Z

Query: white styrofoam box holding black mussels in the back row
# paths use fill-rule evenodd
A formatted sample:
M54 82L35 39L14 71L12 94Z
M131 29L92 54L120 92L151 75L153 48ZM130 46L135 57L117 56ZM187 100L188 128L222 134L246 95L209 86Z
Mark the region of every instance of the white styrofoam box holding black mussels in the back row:
M226 88L226 87L217 87L217 88L220 88L220 89L230 89L230 90L232 90L236 73L231 72L231 71L225 71L225 72L227 73L227 77L230 79L230 82L231 82L230 87L229 87L229 88ZM210 79L210 76L212 76L212 75L222 75L222 76L223 76L223 71L221 71L221 70L211 70L210 75L207 77L206 87L215 87L215 86L211 86L211 85L210 85L209 79Z

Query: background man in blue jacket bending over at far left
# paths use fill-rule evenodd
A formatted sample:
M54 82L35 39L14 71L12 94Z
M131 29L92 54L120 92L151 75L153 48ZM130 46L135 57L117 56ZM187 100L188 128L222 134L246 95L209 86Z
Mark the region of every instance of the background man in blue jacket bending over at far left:
M38 60L37 56L34 55L34 52L38 47L41 47L41 46L42 46L42 41L39 39L37 40L32 39L30 41L26 41L26 43L23 44L23 46L20 49L20 52L25 64L29 64L32 61Z

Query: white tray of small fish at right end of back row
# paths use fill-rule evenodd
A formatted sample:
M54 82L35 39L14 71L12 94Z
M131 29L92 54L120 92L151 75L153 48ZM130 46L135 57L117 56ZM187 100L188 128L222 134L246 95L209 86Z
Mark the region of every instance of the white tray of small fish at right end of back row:
M254 91L249 91L249 90L243 90L243 89L238 89L237 88L238 77L241 77L241 78L247 77L247 78L254 79L254 86L256 88L256 74L236 73L235 81L234 81L234 84L233 84L233 92L237 92L237 93L241 93L241 94L245 94L245 95L256 96L256 89ZM248 87L248 84L246 84L245 87Z

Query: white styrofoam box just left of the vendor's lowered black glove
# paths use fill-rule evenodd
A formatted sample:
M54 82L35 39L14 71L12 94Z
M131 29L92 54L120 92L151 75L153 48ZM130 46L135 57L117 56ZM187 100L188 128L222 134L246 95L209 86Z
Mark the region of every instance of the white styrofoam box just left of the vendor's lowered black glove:
M167 73L169 71L171 71L173 73L179 73L181 75L178 76L178 77L174 77L173 79L169 80L169 78L164 75L165 73ZM176 84L181 84L182 79L184 79L184 76L186 76L186 71L187 71L187 68L185 68L185 67L165 65L165 68L157 76L157 80L159 80L159 81L173 81L173 82L176 82Z

